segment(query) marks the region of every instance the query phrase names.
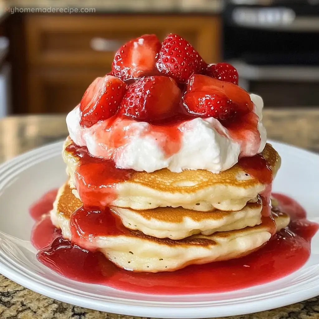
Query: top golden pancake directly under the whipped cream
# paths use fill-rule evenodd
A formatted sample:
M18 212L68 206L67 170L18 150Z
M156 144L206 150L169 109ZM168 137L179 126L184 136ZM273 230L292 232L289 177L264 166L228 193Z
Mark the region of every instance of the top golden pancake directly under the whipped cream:
M70 143L72 141L68 138L63 158L70 176L70 187L75 189L79 158L65 150ZM262 155L275 176L280 167L278 153L266 144ZM266 187L238 164L219 174L206 170L173 173L166 168L153 173L134 171L127 181L115 184L116 199L111 203L106 200L102 206L109 204L134 210L182 206L196 211L239 211ZM75 195L79 197L77 193Z

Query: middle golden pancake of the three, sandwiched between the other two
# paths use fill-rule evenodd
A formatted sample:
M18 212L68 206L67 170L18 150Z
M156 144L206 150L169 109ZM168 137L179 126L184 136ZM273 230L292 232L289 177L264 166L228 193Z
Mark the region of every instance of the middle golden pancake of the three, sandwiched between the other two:
M170 239L182 239L194 234L211 235L261 223L262 204L247 203L240 211L194 211L183 207L157 207L148 210L111 207L126 228L144 234Z

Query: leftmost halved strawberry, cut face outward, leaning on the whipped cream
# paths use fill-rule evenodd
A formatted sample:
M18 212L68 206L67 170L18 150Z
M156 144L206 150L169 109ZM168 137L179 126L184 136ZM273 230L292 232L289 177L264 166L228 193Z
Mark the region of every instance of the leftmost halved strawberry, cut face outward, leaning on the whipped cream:
M90 127L113 116L121 103L126 84L112 75L96 78L86 89L80 103L81 126Z

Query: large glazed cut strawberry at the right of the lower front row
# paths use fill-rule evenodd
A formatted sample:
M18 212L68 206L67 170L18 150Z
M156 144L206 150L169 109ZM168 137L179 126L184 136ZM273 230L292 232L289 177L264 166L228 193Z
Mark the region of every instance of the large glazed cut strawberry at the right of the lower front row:
M192 114L220 120L253 109L249 94L238 85L199 74L189 78L183 105Z

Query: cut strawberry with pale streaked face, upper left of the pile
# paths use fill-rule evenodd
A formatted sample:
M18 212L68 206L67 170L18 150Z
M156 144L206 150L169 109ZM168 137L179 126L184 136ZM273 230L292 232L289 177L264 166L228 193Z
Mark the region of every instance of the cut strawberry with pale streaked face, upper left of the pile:
M123 81L154 75L160 47L155 34L144 34L125 43L115 53L112 74Z

